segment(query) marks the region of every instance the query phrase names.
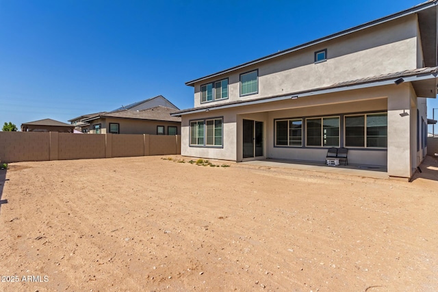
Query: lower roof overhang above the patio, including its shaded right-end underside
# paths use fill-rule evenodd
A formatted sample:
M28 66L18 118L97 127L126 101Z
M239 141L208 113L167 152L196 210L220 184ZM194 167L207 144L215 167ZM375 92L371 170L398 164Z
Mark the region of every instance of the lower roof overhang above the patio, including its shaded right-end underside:
M383 85L394 85L400 84L403 82L411 82L413 84L413 88L417 96L420 97L432 97L435 98L437 96L437 77L438 77L438 67L429 68L430 72L417 74L417 75L408 75L403 76L399 73L391 75L391 78L386 79L378 79L373 81L363 81L361 83L352 83L352 84L341 84L341 85L332 85L327 88L318 88L309 90L306 92L295 92L291 94L285 94L281 96L270 96L266 98L257 98L250 101L235 101L231 103L222 103L220 105L211 105L207 107L196 107L194 109L185 109L182 111L177 111L170 116L184 116L188 114L196 114L205 111L213 111L218 109L228 109L231 107L242 107L247 105L259 105L263 103L272 103L274 101L285 101L287 99L296 99L303 98L306 96L314 96L320 94L330 94L335 92L344 92L348 90L360 90L364 88L373 88L377 86ZM353 81L352 81L353 82ZM420 94L425 93L425 94Z

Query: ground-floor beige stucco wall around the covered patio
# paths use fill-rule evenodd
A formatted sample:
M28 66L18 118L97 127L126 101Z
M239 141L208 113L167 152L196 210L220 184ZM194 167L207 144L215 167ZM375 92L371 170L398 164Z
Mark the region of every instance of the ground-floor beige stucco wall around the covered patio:
M418 100L420 113L425 116L425 99ZM387 166L389 175L409 178L422 161L422 153L417 153L416 149L416 103L411 83L402 83L186 115L182 116L181 154L242 161L242 120L246 118L264 123L264 157L324 161L326 148L274 147L274 119L388 111L387 150L350 150L348 161ZM400 116L403 112L409 115ZM223 148L190 147L189 120L220 116L224 118Z

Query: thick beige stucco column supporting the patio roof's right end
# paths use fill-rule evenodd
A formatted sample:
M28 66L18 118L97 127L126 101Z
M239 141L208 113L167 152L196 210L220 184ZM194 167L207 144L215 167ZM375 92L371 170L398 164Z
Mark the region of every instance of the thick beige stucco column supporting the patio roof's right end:
M388 96L388 175L411 178L411 96L409 84Z

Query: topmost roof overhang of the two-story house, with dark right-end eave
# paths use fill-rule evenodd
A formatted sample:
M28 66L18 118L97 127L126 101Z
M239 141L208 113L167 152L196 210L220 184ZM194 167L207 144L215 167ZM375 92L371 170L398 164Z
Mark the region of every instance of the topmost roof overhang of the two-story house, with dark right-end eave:
M268 55L266 57L261 57L259 59L255 59L250 62L246 62L244 64L222 70L220 72L216 72L211 75L207 75L205 77L201 77L198 79L194 79L192 81L188 81L185 85L194 86L195 83L200 81L204 81L210 78L218 77L220 75L227 74L229 72L233 72L235 70L239 70L241 68L245 68L251 65L259 64L261 62L267 61L269 59L273 59L275 57L279 57L281 55L286 55L292 53L294 51L298 51L300 49L305 49L307 47L314 46L315 44L320 44L322 42L326 42L329 40L333 40L335 38L339 38L341 36L346 36L348 34L355 33L357 31L361 31L363 29L367 29L369 27L374 27L376 25L380 25L382 23L387 23L388 21L393 21L397 18L402 18L404 16L408 16L411 14L418 14L419 17L419 26L420 33L422 35L422 46L424 48L424 66L426 67L435 67L437 66L437 2L438 0L426 1L425 3L421 3L419 5L414 6L413 8L409 8L408 10L403 10L402 12L398 12L396 14L391 14L389 16L385 16L383 18L379 18L375 21L370 21L368 23L364 23L363 25L359 25L357 27L352 27L350 29L346 29L344 31L340 31L336 34L332 34L330 36L326 36L324 38L319 38L317 40L313 40L311 42L307 42L305 44L300 44L296 47L286 49L284 51L280 51L279 53L274 53L272 55ZM429 8L435 9L428 10Z

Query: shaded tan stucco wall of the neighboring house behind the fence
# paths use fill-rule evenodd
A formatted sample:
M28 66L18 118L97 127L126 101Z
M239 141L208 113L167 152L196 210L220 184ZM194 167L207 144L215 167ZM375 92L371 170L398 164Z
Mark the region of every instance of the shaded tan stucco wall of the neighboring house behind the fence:
M105 118L99 120L93 120L90 122L90 133L94 134L92 126L94 124L101 124L101 134L110 133L110 123L118 123L120 134L157 134L157 126L164 126L164 135L168 133L168 127L177 127L178 135L181 134L180 122L161 122L154 120L134 120L134 119L121 119L121 118Z

